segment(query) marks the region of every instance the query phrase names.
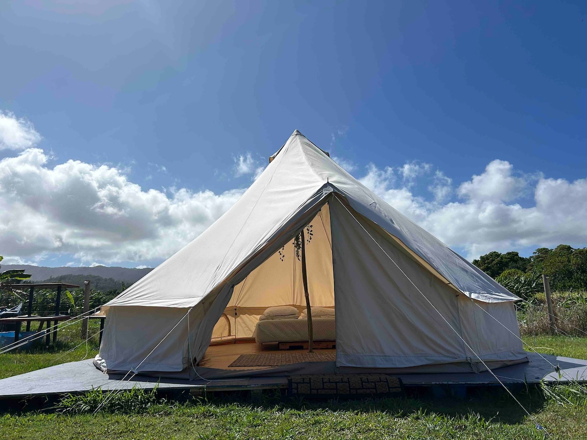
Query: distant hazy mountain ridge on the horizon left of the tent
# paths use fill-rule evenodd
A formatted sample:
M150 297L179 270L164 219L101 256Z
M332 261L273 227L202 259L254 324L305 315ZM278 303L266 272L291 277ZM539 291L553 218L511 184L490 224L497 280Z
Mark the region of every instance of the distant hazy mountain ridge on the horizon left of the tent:
M32 265L2 265L0 271L10 269L25 269L26 273L31 274L32 281L43 281L63 275L95 275L103 278L112 278L116 281L123 281L129 284L136 282L153 270L153 268L129 269L108 266L93 266L91 268L69 268L67 266L46 268L45 266Z

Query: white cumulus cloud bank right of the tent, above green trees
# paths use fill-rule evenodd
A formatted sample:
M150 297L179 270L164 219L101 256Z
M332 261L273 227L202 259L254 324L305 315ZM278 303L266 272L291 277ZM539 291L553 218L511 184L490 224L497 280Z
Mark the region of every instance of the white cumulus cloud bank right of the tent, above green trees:
M370 164L361 181L448 246L464 249L468 259L493 250L587 242L587 179L524 175L507 161L494 160L462 182L451 199L451 179L432 168L419 174L414 186L397 177L404 167L394 171ZM422 186L430 197L415 194ZM534 204L523 207L521 199L528 194Z

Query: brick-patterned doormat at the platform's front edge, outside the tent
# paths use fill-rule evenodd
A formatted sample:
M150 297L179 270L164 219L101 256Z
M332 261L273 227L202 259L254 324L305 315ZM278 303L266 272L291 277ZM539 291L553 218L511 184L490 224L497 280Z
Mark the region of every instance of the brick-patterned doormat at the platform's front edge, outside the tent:
M290 376L289 395L315 398L400 397L403 384L389 374L300 374Z

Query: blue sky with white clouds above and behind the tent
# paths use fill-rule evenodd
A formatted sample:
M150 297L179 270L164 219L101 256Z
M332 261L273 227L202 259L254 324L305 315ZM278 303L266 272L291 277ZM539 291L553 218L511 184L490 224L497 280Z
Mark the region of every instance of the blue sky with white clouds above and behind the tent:
M227 209L295 129L468 258L586 245L583 2L39 3L0 6L0 110L16 121L11 130L38 136L5 140L0 158L12 177L17 157L52 182L49 171L73 160L101 182L106 165L123 188L139 185L140 197L152 189L173 205L178 191L192 202L211 192L218 206L171 221L181 238L149 253L141 249L150 239L166 240L152 225L134 238L130 223L86 228L96 204L79 214L67 207L64 219L5 183L0 191L20 199L6 208L25 204L22 214L48 225L45 236L5 226L10 243L0 252L12 261L156 264ZM31 148L45 158L24 157ZM406 164L419 171L406 177ZM474 175L493 193L473 197ZM438 179L450 180L441 199L430 189ZM572 202L551 225L543 187L549 201ZM453 208L471 216L470 235L451 232ZM484 209L493 220L477 215ZM523 226L524 216L535 224ZM117 253L121 240L131 250Z

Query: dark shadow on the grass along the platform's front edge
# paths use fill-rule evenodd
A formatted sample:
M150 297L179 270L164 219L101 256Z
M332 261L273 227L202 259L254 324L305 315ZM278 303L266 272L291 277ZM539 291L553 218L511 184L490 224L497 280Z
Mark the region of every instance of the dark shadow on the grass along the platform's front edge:
M392 417L418 417L419 415L436 414L441 417L468 418L471 415L492 422L503 424L519 424L527 415L525 411L503 389L497 387L475 387L463 398L434 398L430 390L408 390L401 398L365 398L362 400L305 400L288 397L285 390L265 390L262 394L251 396L248 391L210 392L204 397L192 397L187 392L170 392L161 390L157 393L162 398L161 411L173 412L178 407L186 409L196 407L234 408L247 411L274 411L275 409L300 412L343 411L352 413L380 413ZM108 394L104 393L104 397ZM541 411L546 404L545 396L539 387L532 385L514 393L519 402L530 414ZM35 411L55 412L59 408L59 397L28 398L0 402L0 413L14 415L29 414ZM120 411L117 410L118 413ZM137 412L138 411L138 412ZM134 414L149 414L129 408ZM105 411L108 412L108 411ZM91 413L91 411L90 411Z

